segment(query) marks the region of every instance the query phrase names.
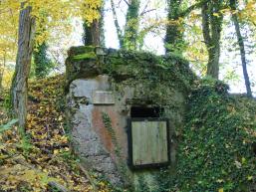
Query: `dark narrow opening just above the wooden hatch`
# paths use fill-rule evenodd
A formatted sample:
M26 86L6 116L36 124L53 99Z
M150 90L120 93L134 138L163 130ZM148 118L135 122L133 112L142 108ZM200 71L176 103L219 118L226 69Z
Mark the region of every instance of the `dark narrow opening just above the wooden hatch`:
M159 107L131 106L130 117L160 117L161 111Z

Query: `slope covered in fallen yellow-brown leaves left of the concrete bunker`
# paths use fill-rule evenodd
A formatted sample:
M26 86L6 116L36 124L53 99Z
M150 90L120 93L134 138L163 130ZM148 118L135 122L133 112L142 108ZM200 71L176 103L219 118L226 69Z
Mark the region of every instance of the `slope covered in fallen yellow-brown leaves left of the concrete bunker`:
M0 132L0 191L110 191L106 182L93 183L72 153L63 83L64 76L30 82L25 134L17 126ZM3 97L0 124L10 120Z

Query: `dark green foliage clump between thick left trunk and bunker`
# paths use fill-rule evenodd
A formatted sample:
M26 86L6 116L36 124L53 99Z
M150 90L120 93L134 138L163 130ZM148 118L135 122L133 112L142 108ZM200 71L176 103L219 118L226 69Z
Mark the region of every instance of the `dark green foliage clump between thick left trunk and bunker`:
M36 78L45 78L55 67L54 63L47 56L48 46L44 42L34 52L34 68Z

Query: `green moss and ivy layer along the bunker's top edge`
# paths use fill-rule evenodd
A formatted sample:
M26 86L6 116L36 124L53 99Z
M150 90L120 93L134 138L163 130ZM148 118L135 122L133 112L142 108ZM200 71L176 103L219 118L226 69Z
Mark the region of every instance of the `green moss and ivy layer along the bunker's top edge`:
M146 80L153 84L168 82L182 91L189 91L196 79L188 62L174 55L155 56L147 52L77 47L71 48L66 61L68 83L81 75L88 78L85 69L92 67L92 60L98 72L108 74L117 82L128 79Z

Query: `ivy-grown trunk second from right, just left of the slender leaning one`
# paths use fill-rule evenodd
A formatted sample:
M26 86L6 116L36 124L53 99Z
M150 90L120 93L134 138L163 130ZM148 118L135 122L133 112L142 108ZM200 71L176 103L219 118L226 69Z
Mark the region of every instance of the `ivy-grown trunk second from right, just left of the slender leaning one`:
M208 52L207 75L218 79L220 57L220 34L223 16L220 0L210 0L202 5L202 31Z

